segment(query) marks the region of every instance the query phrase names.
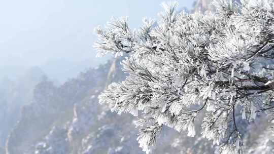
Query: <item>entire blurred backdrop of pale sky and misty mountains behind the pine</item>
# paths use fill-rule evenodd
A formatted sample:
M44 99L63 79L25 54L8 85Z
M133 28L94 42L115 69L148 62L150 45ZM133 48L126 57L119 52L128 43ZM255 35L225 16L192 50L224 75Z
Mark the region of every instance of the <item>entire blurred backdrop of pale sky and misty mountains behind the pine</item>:
M157 19L162 1L0 0L0 154L143 153L131 115L98 105L125 78L120 58L96 58L93 29L111 17ZM209 0L179 1L178 12L211 10ZM183 132L184 133L184 132ZM212 153L196 135L165 128L154 153Z

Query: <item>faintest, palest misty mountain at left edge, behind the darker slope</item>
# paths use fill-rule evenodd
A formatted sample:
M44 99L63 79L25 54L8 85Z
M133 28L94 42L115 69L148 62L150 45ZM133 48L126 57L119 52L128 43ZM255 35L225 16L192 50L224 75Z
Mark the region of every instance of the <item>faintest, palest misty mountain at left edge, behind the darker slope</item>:
M32 102L35 86L44 78L44 72L39 67L32 67L16 81L8 78L0 80L0 147L4 147L6 139L21 117L21 109Z

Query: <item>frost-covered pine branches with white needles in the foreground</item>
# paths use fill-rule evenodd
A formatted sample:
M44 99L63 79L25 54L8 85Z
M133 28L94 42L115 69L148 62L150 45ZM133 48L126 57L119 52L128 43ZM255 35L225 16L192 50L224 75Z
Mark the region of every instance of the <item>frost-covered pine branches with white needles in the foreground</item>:
M213 2L216 12L177 12L163 3L160 21L127 18L97 27L98 56L126 53L127 78L99 96L112 111L138 117L138 141L147 153L163 126L195 136L195 122L220 153L244 153L248 126L274 108L274 2ZM141 112L140 114L138 114ZM257 132L256 132L257 133Z

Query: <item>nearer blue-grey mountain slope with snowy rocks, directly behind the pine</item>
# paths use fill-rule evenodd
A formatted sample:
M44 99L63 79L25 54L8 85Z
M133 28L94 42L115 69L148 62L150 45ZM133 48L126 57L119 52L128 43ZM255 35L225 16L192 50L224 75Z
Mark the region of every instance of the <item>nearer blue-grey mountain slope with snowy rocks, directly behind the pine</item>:
M38 84L33 103L23 107L22 117L7 140L6 153L144 153L136 141L138 130L132 123L132 115L112 113L97 100L107 85L125 78L120 65L122 59L119 57L98 68L90 68L59 87L47 79ZM185 150L213 152L206 144L208 141L199 139L196 142L196 138L179 134L164 128L161 142L157 142L153 151L159 154Z

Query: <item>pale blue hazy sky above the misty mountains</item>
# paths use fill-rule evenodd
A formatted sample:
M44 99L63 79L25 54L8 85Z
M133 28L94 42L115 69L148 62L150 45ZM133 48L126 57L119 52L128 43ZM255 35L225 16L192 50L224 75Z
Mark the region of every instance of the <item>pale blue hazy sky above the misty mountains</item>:
M142 17L157 17L157 0L0 0L0 67L33 66L49 60L95 57L93 29L112 16L128 16L138 28ZM179 1L191 8L193 0Z

